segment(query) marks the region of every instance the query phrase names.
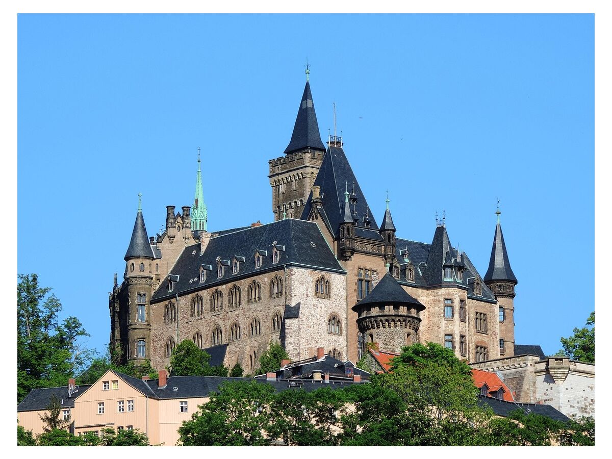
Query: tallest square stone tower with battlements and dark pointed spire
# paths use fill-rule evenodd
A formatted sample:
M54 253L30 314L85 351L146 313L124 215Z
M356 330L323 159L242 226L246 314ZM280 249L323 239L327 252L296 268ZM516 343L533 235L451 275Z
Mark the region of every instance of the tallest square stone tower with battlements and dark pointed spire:
M308 73L310 71L307 69L304 94L297 110L291 141L283 153L285 156L268 162L275 221L283 219L283 212L289 218L300 218L325 154Z

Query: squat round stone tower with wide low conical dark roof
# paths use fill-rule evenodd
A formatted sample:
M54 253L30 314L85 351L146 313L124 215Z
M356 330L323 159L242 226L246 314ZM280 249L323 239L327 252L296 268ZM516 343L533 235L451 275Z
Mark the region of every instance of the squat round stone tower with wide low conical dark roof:
M401 348L412 344L412 332L419 330L419 315L425 306L387 272L352 309L358 314L357 326L365 337L363 353L367 343L378 343L381 351L400 353Z

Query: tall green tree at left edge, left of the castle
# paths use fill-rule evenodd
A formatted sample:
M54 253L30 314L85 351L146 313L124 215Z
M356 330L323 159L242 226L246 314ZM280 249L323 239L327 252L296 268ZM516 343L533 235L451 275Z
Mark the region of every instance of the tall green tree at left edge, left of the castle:
M75 317L59 321L59 300L41 288L36 274L18 275L17 285L17 399L37 387L65 386L80 374L94 351L80 338L89 336Z

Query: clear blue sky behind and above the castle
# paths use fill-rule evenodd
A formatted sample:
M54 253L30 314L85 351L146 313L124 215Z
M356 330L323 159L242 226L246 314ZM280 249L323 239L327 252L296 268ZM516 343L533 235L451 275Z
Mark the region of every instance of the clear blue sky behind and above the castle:
M592 15L20 15L18 272L103 351L138 192L153 236L200 146L209 230L272 220L307 56L378 222L386 190L400 237L446 209L484 275L501 200L517 343L557 351L594 310Z

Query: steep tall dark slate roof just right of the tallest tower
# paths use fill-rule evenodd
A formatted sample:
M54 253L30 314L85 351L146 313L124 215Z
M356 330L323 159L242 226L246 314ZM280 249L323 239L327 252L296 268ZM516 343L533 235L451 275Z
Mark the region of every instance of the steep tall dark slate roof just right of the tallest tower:
M370 219L370 228L378 230L376 220L370 212L370 207L365 200L364 193L359 187L359 182L355 178L353 169L346 159L346 154L341 147L327 147L326 154L321 163L321 168L316 176L313 186L321 187L321 198L323 207L325 208L327 218L329 218L330 227L334 231L335 236L340 233L340 223L344 220L345 211L345 191L348 185L353 187L354 193L357 196L355 206L351 203L351 212L357 217L357 227L364 228L363 217L367 215ZM351 195L352 196L352 195ZM302 219L306 220L312 210L312 191L302 211ZM357 231L355 231L357 234Z

